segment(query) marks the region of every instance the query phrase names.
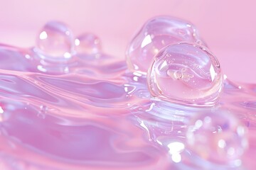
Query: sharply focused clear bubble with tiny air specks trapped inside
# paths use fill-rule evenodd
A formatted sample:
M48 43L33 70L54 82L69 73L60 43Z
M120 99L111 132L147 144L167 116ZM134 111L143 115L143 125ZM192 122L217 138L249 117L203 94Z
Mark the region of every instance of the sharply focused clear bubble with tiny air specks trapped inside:
M193 106L213 106L223 89L218 60L192 42L164 47L154 58L147 81L151 96Z

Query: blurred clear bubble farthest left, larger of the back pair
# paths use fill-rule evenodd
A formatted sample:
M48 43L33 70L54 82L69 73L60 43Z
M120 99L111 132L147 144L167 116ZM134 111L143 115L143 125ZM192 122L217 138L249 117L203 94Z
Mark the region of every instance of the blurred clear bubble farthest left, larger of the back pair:
M35 50L43 58L68 59L74 52L73 33L64 23L48 22L38 35Z

